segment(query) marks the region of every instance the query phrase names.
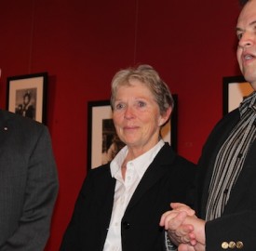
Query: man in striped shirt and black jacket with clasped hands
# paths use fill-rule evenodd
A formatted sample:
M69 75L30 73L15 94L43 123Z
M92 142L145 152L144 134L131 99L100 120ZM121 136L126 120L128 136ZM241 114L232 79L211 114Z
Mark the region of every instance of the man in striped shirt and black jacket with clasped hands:
M237 60L256 90L256 1L242 1L237 20ZM255 250L256 92L222 118L198 163L195 211L172 204L160 225L181 251ZM200 219L202 218L202 219Z

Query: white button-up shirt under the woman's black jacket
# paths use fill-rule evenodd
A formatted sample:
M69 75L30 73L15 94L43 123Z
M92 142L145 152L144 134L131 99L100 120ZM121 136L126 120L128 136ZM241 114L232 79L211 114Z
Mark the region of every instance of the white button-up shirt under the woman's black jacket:
M164 144L165 142L161 139L151 150L143 153L138 158L129 161L127 163L125 180L122 178L121 166L128 154L128 147L126 146L118 152L115 159L111 162L111 175L116 179L116 184L112 217L103 251L122 250L121 220L130 198L140 183L142 176Z

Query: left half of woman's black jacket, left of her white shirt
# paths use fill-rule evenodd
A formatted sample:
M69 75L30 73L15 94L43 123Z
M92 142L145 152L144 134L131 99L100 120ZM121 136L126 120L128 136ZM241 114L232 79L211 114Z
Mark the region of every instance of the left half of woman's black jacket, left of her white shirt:
M102 250L112 214L115 178L110 166L90 169L62 237L61 251Z

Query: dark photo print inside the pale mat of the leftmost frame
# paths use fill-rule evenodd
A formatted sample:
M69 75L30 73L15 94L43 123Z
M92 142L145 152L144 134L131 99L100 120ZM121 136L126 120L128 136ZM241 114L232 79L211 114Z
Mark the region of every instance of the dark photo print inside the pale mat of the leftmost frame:
M36 88L16 91L15 113L35 119Z

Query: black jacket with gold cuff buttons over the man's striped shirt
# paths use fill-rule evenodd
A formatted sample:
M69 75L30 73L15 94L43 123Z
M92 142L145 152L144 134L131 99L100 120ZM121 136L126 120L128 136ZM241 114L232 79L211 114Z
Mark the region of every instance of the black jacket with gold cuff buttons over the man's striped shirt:
M198 204L200 218L205 218L208 200L209 182L214 161L222 143L239 120L236 109L227 114L214 127L207 140L198 166ZM254 141L246 156L243 170L236 181L230 199L221 218L206 224L208 251L221 251L223 242L242 243L241 250L255 250L256 236L256 142ZM237 250L237 249L235 249Z

